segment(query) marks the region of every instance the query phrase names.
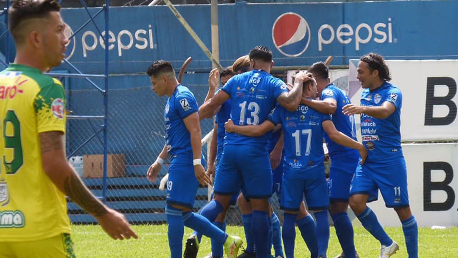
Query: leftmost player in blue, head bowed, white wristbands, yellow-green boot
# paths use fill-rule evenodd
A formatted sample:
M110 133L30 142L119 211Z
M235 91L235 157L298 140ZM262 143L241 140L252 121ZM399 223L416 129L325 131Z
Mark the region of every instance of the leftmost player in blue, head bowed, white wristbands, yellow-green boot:
M171 158L167 182L168 236L171 258L181 258L184 226L224 244L228 257L235 258L242 240L228 236L205 217L191 211L199 183L211 183L201 161L201 129L194 95L178 83L172 64L156 61L147 70L153 90L169 99L164 110L165 145L148 169L147 177L155 182L164 159Z

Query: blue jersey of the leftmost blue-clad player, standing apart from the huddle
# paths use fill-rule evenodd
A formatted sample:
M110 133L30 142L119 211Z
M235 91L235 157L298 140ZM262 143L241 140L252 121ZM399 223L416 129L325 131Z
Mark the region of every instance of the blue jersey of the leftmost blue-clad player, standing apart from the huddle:
M191 135L183 119L195 112L198 112L196 98L188 88L179 84L164 110L165 144L176 163L192 163Z

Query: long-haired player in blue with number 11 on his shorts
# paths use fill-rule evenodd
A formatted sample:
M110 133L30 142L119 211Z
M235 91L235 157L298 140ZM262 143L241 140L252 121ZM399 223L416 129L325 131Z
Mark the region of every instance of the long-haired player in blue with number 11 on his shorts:
M401 148L402 94L393 84L382 56L371 53L360 58L358 75L364 89L361 104L348 104L343 112L360 114L361 135L368 151L366 163L358 165L351 184L350 207L361 224L380 241L380 258L388 258L398 249L366 202L375 201L378 190L385 205L394 208L403 226L409 258L418 258L418 226L410 211L407 170Z

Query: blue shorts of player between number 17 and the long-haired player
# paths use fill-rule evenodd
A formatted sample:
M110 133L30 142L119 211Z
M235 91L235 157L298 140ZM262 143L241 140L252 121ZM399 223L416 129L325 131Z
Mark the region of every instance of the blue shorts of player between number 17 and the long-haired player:
M358 159L343 161L331 158L331 169L327 181L330 202L348 202L351 180L358 163Z

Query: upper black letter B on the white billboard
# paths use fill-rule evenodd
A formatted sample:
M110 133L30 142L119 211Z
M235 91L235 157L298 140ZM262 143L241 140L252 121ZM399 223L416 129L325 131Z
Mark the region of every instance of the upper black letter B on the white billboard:
M434 86L447 85L447 96L435 97ZM426 108L425 108L425 125L447 125L453 123L457 115L457 106L452 101L457 93L457 83L450 77L428 77L426 84ZM433 118L432 110L435 105L446 105L448 115L443 118Z

